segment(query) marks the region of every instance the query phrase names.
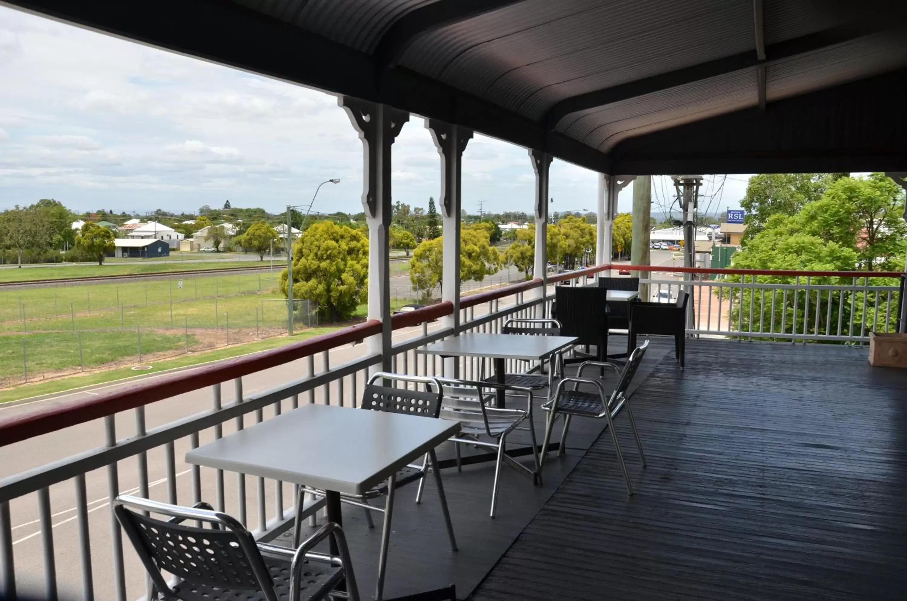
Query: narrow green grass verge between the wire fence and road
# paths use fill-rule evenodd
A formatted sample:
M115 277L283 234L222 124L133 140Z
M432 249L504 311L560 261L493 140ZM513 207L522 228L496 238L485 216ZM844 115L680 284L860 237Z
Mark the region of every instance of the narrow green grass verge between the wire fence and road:
M258 351L278 348L279 346L306 340L307 338L310 338L312 336L334 332L340 327L343 326L310 328L302 333L293 336L280 336L248 344L236 344L226 348L220 348L217 350L201 353L181 354L177 357L162 359L160 361L143 361L143 364L148 364L151 366L151 371L142 373L160 373L180 367L204 364L210 361L217 361L219 359L228 359L229 357L236 357L242 354L257 353ZM19 342L19 344L19 360L21 362L21 342ZM19 369L21 370L21 365ZM73 390L73 388L116 382L118 380L130 378L135 375L136 372L133 372L129 367L122 367L104 372L73 375L71 377L66 377L59 380L51 380L41 383L27 383L24 385L16 386L15 388L10 388L9 390L0 391L0 403L18 401L19 399L26 399L42 394L63 393L65 391ZM29 376L29 379L31 379L31 376Z

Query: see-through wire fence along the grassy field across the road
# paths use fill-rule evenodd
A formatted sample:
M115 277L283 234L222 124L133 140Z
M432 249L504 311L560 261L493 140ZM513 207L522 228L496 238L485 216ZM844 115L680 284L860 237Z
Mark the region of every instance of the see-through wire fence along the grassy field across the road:
M0 387L287 333L278 272L0 292ZM294 299L294 329L318 324Z

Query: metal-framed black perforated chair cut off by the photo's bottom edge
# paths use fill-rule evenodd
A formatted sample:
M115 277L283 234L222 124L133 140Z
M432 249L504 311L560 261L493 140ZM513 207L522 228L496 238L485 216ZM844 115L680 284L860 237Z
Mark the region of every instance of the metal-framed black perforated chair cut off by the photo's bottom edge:
M165 516L156 519L143 512ZM207 503L180 507L132 495L113 513L151 577L151 597L184 601L315 601L346 580L343 596L359 598L343 530L325 524L296 548L256 542L236 519ZM202 526L187 526L187 519ZM312 549L334 538L340 561ZM171 586L161 572L180 579Z

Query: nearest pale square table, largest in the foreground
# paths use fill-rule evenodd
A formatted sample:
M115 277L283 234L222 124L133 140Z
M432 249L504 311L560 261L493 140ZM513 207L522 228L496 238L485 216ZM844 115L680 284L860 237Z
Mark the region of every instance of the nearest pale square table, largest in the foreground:
M447 420L310 404L193 449L186 462L325 490L327 520L342 526L340 493L362 494L426 453L437 465L434 448L459 431ZM378 598L384 570L379 561Z

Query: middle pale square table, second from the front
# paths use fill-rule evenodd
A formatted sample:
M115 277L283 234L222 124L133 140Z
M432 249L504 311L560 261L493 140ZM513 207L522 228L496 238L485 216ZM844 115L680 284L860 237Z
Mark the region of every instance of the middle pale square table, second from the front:
M543 361L552 354L576 344L574 336L540 336L528 334L467 333L439 340L416 349L417 353L442 357L486 357L493 359L494 375L504 383L504 360ZM504 406L504 392L497 391L497 406Z

